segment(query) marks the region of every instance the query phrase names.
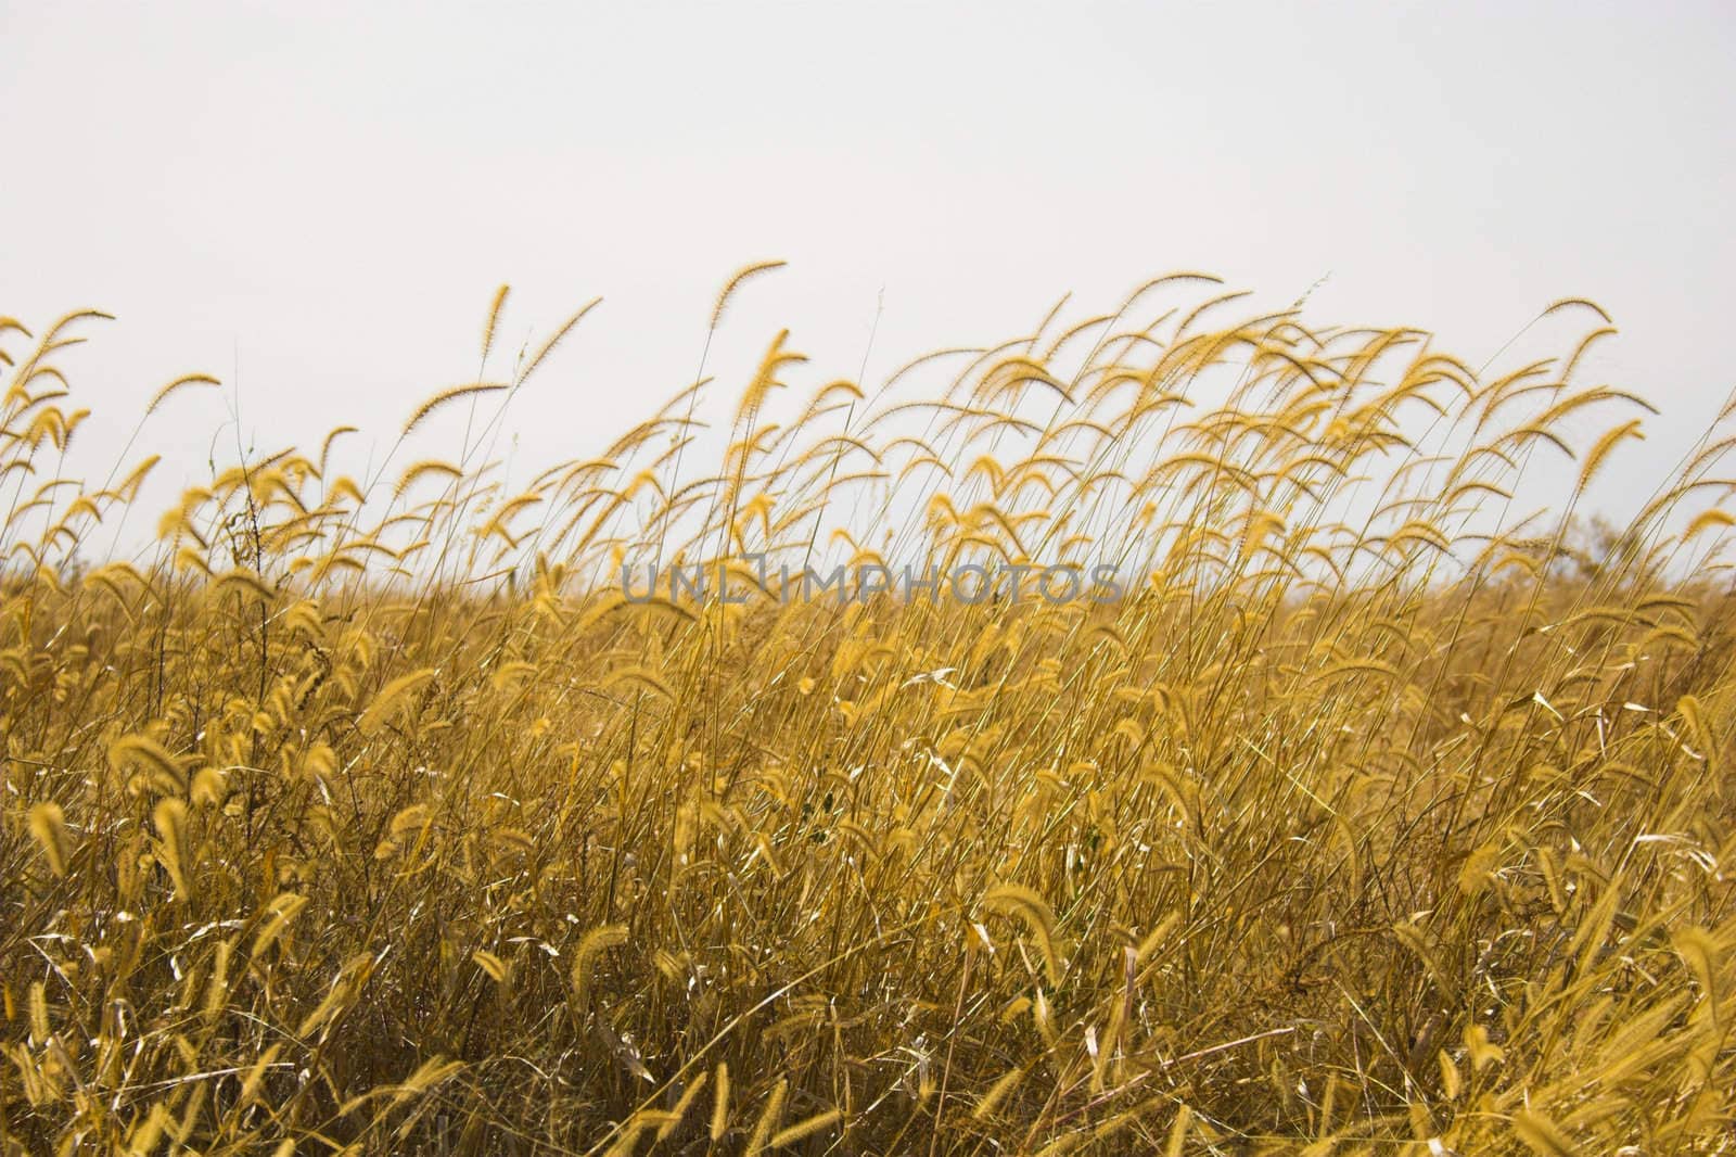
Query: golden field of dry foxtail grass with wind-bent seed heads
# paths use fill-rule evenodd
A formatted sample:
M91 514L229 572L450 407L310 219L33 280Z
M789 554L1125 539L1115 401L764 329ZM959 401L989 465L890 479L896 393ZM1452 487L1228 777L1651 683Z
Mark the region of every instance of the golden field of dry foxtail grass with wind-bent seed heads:
M1594 304L1493 370L1191 274L873 389L778 335L510 490L578 318L505 304L387 467L220 462L130 561L113 323L0 321L0 1150L1736 1152L1736 443L1587 533ZM746 552L1139 580L620 592Z

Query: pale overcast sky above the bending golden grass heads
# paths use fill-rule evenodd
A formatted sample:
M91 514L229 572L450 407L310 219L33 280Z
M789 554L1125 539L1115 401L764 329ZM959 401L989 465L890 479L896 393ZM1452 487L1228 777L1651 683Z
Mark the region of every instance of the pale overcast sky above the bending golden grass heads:
M1316 321L1472 361L1588 295L1601 374L1665 405L1613 467L1647 473L1736 384L1733 59L1715 2L0 0L0 313L118 314L66 360L111 459L236 351L262 450L384 445L474 375L500 281L514 342L601 294L516 408L545 462L681 389L762 257L731 396L783 325L854 375L882 288L870 379L1184 268L1276 302L1330 273ZM141 445L193 479L222 405L174 407Z

